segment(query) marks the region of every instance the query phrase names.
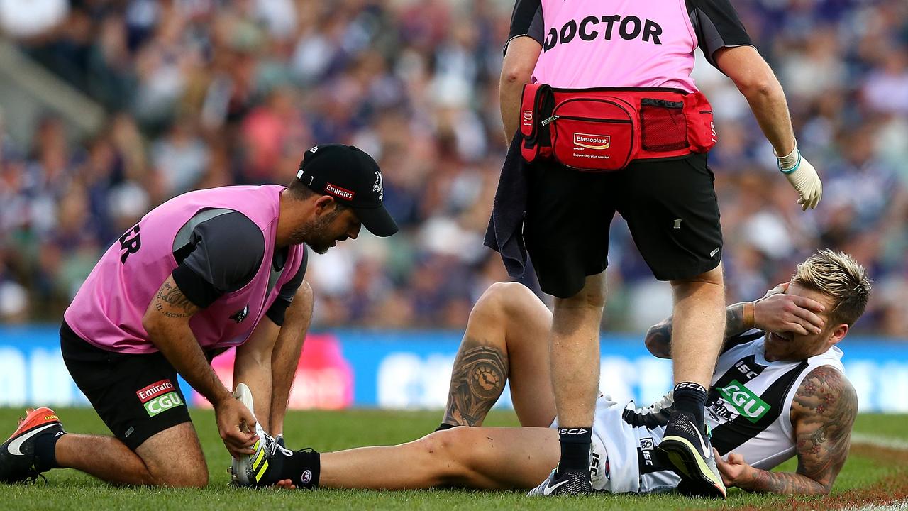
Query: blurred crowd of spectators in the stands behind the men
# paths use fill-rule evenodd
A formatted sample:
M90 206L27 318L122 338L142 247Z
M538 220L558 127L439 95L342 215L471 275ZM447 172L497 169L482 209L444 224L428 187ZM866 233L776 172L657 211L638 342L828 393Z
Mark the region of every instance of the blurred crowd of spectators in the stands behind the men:
M84 140L47 115L27 145L0 117L0 322L59 320L106 246L154 205L287 183L302 152L327 142L379 161L401 232L313 256L316 326L461 328L482 290L508 278L482 235L506 149L509 0L18 4L56 9L50 26L0 4L6 36L107 112ZM908 3L735 6L785 86L824 198L801 212L743 97L698 59L720 139L710 165L728 299L763 296L830 246L874 279L857 331L908 338ZM611 242L604 326L640 331L670 312L670 288L619 216Z

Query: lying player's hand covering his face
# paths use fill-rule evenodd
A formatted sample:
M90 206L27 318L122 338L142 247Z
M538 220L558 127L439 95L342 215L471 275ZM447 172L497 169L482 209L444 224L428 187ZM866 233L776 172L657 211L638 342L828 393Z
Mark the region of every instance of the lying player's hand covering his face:
M766 332L792 332L801 336L819 334L824 321L818 316L824 305L805 296L785 295L776 286L754 304L754 326Z

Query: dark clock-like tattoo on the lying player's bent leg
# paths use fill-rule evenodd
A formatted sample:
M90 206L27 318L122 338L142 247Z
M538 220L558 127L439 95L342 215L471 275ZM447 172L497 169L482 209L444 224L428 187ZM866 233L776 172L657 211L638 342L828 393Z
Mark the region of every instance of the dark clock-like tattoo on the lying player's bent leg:
M457 426L479 426L505 388L508 355L496 346L484 346L464 338L454 370L444 422Z

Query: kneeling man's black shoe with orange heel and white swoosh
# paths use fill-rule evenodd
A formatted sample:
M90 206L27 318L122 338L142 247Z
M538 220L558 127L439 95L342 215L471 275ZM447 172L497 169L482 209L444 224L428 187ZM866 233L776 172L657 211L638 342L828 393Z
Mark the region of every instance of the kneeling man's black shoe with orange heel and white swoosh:
M13 436L0 446L0 482L28 482L41 476L35 466L35 440L44 435L64 433L63 425L54 410L44 406L27 410L27 415L19 421L19 427Z

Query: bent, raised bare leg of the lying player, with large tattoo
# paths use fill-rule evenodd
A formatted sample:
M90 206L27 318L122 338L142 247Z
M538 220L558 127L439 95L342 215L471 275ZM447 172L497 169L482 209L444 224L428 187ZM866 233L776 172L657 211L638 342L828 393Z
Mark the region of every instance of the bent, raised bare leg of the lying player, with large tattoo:
M545 427L555 418L545 337L548 308L526 286L489 286L469 315L460 343L444 422L480 426L505 380L522 426Z

